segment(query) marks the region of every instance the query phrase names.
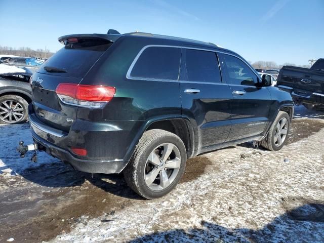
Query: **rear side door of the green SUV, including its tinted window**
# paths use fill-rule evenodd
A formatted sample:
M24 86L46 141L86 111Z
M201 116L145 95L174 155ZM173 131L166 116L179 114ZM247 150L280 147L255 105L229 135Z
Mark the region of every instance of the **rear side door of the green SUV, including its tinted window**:
M213 50L183 48L180 72L182 115L198 130L198 151L223 143L230 131L232 92L222 82Z

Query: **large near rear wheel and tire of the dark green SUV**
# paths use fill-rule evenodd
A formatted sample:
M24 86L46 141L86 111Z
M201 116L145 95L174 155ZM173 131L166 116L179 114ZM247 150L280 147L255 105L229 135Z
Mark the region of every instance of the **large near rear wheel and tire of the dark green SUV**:
M175 134L146 131L124 170L127 184L147 199L164 196L180 181L186 166L186 148Z

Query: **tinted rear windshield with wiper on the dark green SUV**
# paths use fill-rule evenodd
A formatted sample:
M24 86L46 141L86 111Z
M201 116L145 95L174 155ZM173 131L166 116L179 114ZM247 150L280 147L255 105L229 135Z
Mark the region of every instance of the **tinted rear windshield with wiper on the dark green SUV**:
M87 42L87 44L68 44L50 57L37 72L84 77L101 55L112 45L107 42L94 42L93 44L91 45L90 42ZM49 72L47 67L64 70L64 72Z

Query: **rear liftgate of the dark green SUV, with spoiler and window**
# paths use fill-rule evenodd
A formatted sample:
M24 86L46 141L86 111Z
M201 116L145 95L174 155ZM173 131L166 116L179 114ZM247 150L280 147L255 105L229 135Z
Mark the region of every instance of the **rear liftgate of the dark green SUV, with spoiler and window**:
M104 38L102 37L104 36ZM55 90L59 84L79 84L112 45L109 35L69 35L59 38L65 47L47 60L32 76L35 115L43 123L68 132L77 106L64 104Z

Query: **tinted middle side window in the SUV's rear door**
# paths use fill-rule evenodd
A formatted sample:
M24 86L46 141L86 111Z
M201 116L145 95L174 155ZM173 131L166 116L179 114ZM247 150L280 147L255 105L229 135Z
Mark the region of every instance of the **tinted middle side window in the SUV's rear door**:
M221 83L215 52L186 49L188 81Z

